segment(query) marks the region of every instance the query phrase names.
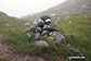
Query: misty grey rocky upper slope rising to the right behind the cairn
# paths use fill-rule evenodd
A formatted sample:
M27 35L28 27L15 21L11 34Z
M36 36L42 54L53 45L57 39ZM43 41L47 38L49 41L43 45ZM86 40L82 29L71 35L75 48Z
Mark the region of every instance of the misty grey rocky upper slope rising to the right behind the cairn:
M61 15L61 14L68 14L68 13L91 13L91 0L67 0L61 4L57 4L53 8L48 9L47 11L37 13L41 15ZM30 17L36 16L27 15L23 16L23 19L30 20Z

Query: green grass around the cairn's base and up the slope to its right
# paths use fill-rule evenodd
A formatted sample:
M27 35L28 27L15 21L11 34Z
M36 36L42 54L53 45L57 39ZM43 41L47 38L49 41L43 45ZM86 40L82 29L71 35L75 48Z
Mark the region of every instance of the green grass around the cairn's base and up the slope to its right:
M62 59L68 61L66 58L73 56L69 52L69 48L77 48L86 57L87 61L91 58L91 14L68 14L53 16L52 19L58 20L56 27L66 37L67 42L54 42L48 37L44 38L50 47L37 47L35 46L35 37L28 38L26 36L27 30L14 30L4 36L3 42L8 42L13 52L20 54L42 56L50 61L61 61ZM84 17L87 15L87 17ZM69 23L72 21L72 23ZM25 27L25 26L24 26ZM21 28L21 27L20 27ZM16 27L17 29L17 27Z

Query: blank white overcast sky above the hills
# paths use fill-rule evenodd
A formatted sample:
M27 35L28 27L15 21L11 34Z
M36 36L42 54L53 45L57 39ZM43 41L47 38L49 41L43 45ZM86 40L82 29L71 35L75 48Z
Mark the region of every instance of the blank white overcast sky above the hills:
M0 0L0 11L10 16L22 17L42 12L66 0Z

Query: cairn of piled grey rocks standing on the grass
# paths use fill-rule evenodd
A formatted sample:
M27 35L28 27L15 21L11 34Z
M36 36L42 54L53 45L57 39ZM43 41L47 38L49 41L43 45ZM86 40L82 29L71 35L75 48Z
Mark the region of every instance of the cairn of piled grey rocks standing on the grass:
M35 20L30 28L30 33L28 33L27 35L30 37L32 34L35 35L36 40L41 42L41 45L47 45L44 40L40 41L43 37L49 37L54 41L65 41L65 37L58 32L55 24L49 16L41 16L38 20ZM39 44L38 41L36 44Z

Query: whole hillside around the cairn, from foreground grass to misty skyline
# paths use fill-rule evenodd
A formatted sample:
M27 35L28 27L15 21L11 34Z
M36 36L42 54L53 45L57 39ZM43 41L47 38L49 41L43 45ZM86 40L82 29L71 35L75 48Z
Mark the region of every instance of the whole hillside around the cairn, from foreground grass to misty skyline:
M48 9L44 12L37 13L41 15L50 15L56 23L57 29L61 32L62 35L66 37L66 42L63 44L55 42L49 37L43 38L42 40L46 40L49 47L38 47L35 45L36 39L34 36L26 36L26 34L30 32L30 25L32 24L32 21L36 19L37 14L17 19L0 12L0 34L5 34L1 42L8 44L8 47L14 54L17 53L25 60L27 60L26 58L28 57L32 57L32 59L30 59L32 61L68 61L67 57L75 56L73 52L69 51L69 49L77 48L87 58L87 60L84 61L90 61L90 7L91 0L67 0L62 4ZM42 59L37 60L39 58ZM16 58L13 57L13 59ZM3 61L2 58L0 58L0 60Z

